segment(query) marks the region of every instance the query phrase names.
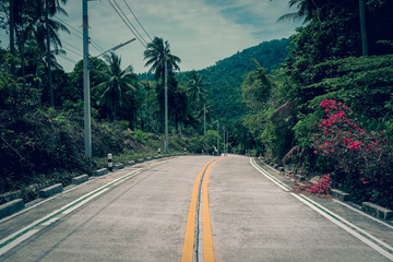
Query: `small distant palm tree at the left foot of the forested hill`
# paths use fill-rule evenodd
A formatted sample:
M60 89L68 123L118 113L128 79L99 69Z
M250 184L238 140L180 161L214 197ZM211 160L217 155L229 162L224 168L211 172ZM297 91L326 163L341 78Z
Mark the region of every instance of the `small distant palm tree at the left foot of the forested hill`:
M205 96L207 94L206 90L203 87L206 87L209 84L205 83L205 79L203 75L199 75L195 70L191 71L188 76L188 90L187 92L190 94L190 98L193 102L193 110L194 115L198 110L198 104L205 102Z

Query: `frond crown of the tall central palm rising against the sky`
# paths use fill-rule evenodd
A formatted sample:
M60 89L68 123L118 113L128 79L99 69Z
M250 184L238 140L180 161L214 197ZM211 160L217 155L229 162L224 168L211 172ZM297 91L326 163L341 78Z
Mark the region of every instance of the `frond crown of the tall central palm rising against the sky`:
M147 60L145 67L151 67L148 73L154 73L156 80L165 79L165 61L167 61L168 72L180 70L178 63L180 58L170 53L169 43L164 43L163 38L154 37L152 43L147 44L147 49L144 51L144 59Z

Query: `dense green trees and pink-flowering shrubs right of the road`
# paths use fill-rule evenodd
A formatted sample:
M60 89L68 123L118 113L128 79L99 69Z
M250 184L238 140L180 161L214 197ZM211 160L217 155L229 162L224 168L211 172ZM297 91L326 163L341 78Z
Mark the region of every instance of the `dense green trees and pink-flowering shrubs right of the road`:
M393 2L289 3L298 12L281 20L305 24L285 64L273 73L259 64L241 87L258 154L326 174L355 202L393 207Z

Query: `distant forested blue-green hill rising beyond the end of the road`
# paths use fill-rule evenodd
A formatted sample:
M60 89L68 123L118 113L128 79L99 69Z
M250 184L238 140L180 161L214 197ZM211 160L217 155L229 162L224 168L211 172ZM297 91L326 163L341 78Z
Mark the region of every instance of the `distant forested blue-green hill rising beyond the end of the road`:
M198 71L209 83L207 99L219 119L229 123L241 120L246 115L241 103L241 84L247 74L255 70L257 63L253 60L270 73L285 62L289 43L289 39L263 41ZM187 72L179 73L179 81L186 82L186 76Z

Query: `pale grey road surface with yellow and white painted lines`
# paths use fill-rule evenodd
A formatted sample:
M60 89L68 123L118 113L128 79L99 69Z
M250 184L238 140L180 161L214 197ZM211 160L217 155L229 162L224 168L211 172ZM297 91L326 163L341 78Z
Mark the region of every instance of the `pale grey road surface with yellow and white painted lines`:
M393 261L390 224L295 194L249 157L213 159L145 163L31 203L0 221L0 261Z

